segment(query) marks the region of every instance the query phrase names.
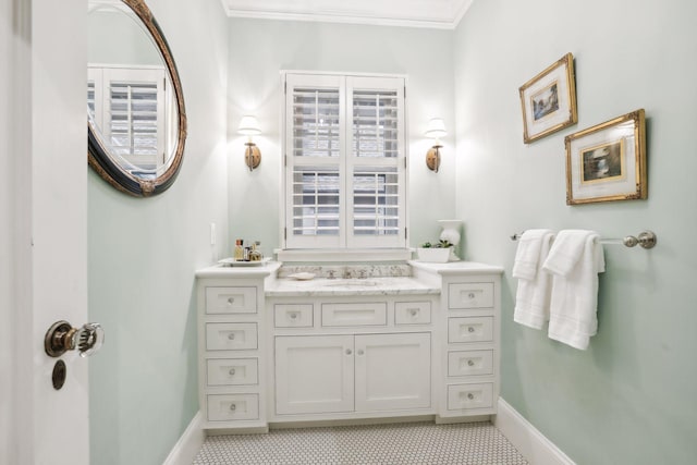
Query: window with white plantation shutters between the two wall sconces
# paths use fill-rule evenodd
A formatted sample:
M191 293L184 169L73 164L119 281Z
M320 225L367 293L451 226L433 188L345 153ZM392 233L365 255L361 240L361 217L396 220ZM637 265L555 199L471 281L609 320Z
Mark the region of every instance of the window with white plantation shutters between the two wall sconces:
M404 248L401 77L285 76L285 247Z

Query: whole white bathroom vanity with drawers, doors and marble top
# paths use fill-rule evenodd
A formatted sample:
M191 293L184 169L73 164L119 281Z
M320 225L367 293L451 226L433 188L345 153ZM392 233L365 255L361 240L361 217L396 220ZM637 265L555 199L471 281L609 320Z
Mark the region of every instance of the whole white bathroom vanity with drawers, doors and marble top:
M296 281L280 264L196 273L206 429L496 413L503 270L351 268L357 278Z

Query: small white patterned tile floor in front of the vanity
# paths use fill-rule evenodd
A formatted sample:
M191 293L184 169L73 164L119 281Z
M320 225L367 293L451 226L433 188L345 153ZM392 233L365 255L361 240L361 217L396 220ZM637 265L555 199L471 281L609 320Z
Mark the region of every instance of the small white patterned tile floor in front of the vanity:
M403 423L211 436L194 461L194 465L229 464L523 465L527 462L490 423Z

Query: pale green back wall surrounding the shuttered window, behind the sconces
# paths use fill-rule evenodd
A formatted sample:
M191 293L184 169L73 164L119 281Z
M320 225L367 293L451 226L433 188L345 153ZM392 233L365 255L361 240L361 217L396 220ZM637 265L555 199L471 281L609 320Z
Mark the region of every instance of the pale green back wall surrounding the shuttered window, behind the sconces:
M280 246L282 70L407 75L411 243L438 237L437 220L451 218L455 199L455 130L452 32L313 22L230 20L229 157L230 234L260 240L266 253ZM244 164L244 114L256 114L262 161ZM426 168L431 118L445 120L441 171ZM430 144L429 144L430 143ZM232 238L232 237L231 237ZM234 243L233 243L234 244Z

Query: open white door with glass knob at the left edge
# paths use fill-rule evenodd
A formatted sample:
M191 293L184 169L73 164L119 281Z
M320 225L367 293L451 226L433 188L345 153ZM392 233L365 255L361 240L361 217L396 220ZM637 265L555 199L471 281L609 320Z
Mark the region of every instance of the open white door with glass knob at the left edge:
M44 350L87 319L86 9L0 0L0 463L86 465L87 360L60 357L59 391Z

